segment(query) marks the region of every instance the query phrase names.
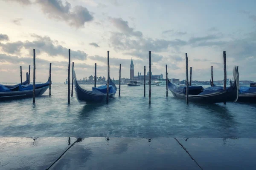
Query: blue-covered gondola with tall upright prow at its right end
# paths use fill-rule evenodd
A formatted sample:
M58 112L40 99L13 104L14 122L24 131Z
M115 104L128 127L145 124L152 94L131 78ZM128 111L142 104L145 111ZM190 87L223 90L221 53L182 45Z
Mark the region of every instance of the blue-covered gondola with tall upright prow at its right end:
M239 95L239 79L236 67L233 69L234 83L226 90L220 87L189 86L189 101L200 103L222 103L227 101L236 102ZM230 82L231 84L231 82ZM177 98L186 98L186 86L175 86L168 80L168 88Z

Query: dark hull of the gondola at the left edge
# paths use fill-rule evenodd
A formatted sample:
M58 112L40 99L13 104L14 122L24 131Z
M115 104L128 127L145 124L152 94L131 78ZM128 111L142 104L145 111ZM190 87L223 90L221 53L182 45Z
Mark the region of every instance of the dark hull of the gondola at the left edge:
M35 89L35 96L38 97L43 95L48 88L49 86ZM33 90L24 90L24 91L17 91L17 92L0 92L0 101L21 99L21 98L32 98L32 97L33 97Z

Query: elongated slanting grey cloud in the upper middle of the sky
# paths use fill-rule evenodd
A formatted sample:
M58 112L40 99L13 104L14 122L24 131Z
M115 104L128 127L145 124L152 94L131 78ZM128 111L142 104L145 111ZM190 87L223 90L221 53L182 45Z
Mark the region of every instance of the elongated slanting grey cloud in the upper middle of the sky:
M143 34L140 31L134 31L133 28L128 26L128 21L123 20L122 18L110 18L113 25L123 32L125 35L131 35L135 37L142 37Z

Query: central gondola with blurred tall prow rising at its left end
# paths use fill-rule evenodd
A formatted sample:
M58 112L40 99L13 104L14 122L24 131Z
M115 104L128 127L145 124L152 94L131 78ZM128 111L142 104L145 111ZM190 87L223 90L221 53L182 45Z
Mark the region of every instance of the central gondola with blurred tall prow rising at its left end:
M73 70L73 76L74 76L74 84L75 84L75 90L76 90L76 98L79 101L85 101L87 103L98 103L101 101L106 100L107 98L107 85L99 86L99 87L93 87L92 91L87 91L85 89L82 89L81 86L79 86L77 80L76 80L76 72ZM111 81L111 78L109 79L109 98L113 98L116 94L116 85Z

